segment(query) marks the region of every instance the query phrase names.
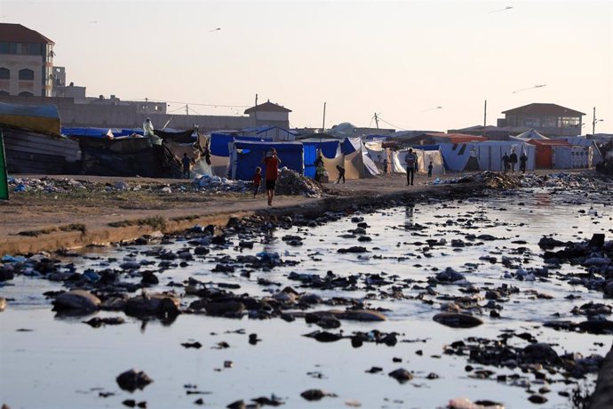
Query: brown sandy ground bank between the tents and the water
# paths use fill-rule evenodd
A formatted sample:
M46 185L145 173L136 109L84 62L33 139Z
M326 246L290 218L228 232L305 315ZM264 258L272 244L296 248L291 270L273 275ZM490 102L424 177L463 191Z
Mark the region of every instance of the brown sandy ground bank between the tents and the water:
M41 175L19 177L40 178ZM326 183L322 198L276 196L274 205L268 206L264 194L254 199L251 195L236 193L159 192L165 184L188 183L187 180L76 175L52 178L110 185L123 180L138 182L142 189L138 193L11 193L8 202L0 203L0 254L52 251L131 239L155 231L155 226L151 226L152 219L163 220L161 230L171 232L195 224L222 225L228 217L249 213L291 213L299 209L333 208L340 205L338 202L350 205L359 200L372 200L373 196L418 195L429 189L441 188L426 185L433 180L426 176L418 175L415 185L409 187L402 175L394 175L346 180L345 184ZM147 191L147 187L151 187L152 191ZM109 223L123 226L111 227Z

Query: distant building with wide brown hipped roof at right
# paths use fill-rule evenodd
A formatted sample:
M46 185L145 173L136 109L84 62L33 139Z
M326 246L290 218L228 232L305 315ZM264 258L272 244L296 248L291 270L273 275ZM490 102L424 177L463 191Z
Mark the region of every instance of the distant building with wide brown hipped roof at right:
M556 104L533 103L502 112L501 127L532 128L545 136L577 136L581 132L583 112Z

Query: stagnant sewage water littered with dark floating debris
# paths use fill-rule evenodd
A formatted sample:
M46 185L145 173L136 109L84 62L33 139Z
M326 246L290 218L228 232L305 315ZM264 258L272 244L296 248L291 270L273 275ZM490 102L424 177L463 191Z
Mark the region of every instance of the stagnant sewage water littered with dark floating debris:
M465 371L468 357L443 353L444 347L468 337L496 339L505 330L532 333L538 341L548 342L558 354L577 352L585 357L605 355L610 336L557 332L542 324L551 319L576 320L571 309L586 302L602 302L602 294L583 286L569 285L561 275L581 272L580 266L562 265L551 269L546 280L518 280L518 269L545 266L538 240L547 235L561 241L580 241L593 233L610 237L613 222L610 198L591 192L589 197L568 191L524 189L487 199L426 201L398 206L368 214L338 217L325 225L312 228L277 229L270 236L260 237L253 249L239 250L239 238L230 237L232 245L211 247L211 253L195 256L187 267L166 269L160 273L160 284L149 292L170 290L171 281L179 283L187 277L203 282L241 285L235 293L270 295L285 286L299 293L317 293L324 299L354 298L372 308L386 309L385 322L360 323L343 321L340 330L350 335L356 331L398 333L394 347L367 342L353 348L349 340L321 343L304 337L321 328L307 325L303 319L285 322L274 318L257 320L179 315L170 325L160 321L140 321L123 313L99 312L98 317L125 317L123 325L107 325L94 329L83 321L90 317L56 317L50 301L42 293L59 290L58 283L36 277L16 277L3 287L0 296L9 299L9 307L0 314L0 403L14 408L103 408L123 407L125 399L147 401L148 408L225 407L238 399L248 402L255 397L281 398L283 407L444 407L454 397L472 400L490 399L506 408L532 406L527 388L513 386L511 381L496 381L496 374L519 374L533 382L532 375L519 369L474 365L496 373L490 379L478 380ZM586 205L585 203L588 203ZM583 212L583 213L581 213ZM370 242L358 242L349 230L356 227L352 217L360 216L369 227ZM420 228L415 229L416 226ZM467 235L490 235L493 240L467 239ZM302 237L301 246L287 245L282 237ZM427 245L426 240L435 240ZM461 240L464 247L454 247L452 240ZM513 243L515 242L515 243ZM368 253L338 253L361 245ZM107 248L81 257L68 259L76 270L119 269L126 261L155 261L144 254L163 246L178 251L192 247L186 239L172 244L129 245ZM193 248L193 247L192 247ZM294 266L276 267L270 271L251 271L241 275L214 273L211 269L219 258L260 252L278 253L284 261L299 261ZM484 258L485 257L485 258ZM503 264L506 261L506 267ZM157 262L157 261L155 261ZM463 287L437 285L437 295L426 293L427 277L451 267L466 275L475 287L497 288L512 285L519 293L509 297L500 318L490 318L489 309L482 309L483 325L471 329L454 329L432 319L447 302L442 294L459 295ZM154 265L143 269L155 269ZM332 271L339 277L380 274L395 281L391 285L366 286L364 280L354 291L301 288L299 281L288 279L291 272L325 275ZM259 285L266 278L279 285ZM139 281L135 275L127 280ZM402 298L388 296L391 287L402 285ZM179 293L182 293L179 289ZM542 297L547 295L547 299ZM572 294L572 299L567 298ZM195 297L185 297L187 306ZM428 301L428 302L425 302ZM479 303L485 304L486 300ZM317 310L330 309L319 306ZM475 311L478 313L478 311ZM555 317L554 314L558 314ZM582 318L583 319L583 318ZM330 330L335 332L334 330ZM251 345L248 335L257 333L259 343ZM198 341L201 349L186 349L182 342ZM225 341L229 348L218 349ZM513 338L513 345L526 341ZM400 361L400 362L394 362ZM230 361L231 364L228 364ZM367 373L372 366L379 373ZM412 381L401 384L387 374L398 368L413 373ZM154 382L134 393L119 389L115 378L135 368L145 371ZM439 375L428 379L429 373ZM588 375L593 382L595 375ZM532 384L539 389L541 384ZM546 407L569 407L569 398L558 395L570 391L561 375L552 375L546 394ZM322 389L334 394L318 402L300 397L306 389ZM188 392L199 392L188 393ZM100 393L112 393L100 397Z

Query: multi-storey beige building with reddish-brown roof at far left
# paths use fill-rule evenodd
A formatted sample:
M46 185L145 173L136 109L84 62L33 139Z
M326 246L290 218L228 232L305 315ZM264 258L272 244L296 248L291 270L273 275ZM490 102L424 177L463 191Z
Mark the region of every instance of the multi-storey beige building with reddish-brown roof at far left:
M51 97L53 45L20 24L0 23L0 94Z

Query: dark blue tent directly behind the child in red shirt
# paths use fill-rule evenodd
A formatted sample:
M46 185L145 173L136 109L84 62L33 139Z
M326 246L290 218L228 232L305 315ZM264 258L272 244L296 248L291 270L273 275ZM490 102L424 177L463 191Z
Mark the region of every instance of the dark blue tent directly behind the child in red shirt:
M251 180L255 168L262 167L266 174L266 166L262 159L270 148L275 148L281 160L280 167L287 167L302 174L304 172L303 146L300 142L261 142L251 140L235 140L230 149L230 176L236 180Z

